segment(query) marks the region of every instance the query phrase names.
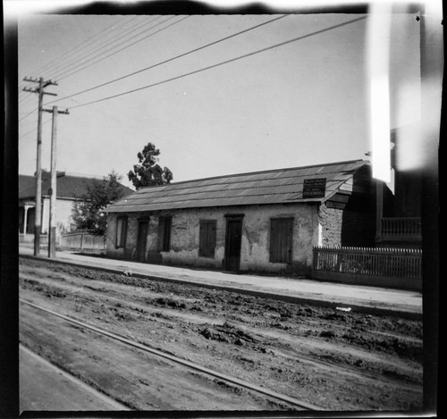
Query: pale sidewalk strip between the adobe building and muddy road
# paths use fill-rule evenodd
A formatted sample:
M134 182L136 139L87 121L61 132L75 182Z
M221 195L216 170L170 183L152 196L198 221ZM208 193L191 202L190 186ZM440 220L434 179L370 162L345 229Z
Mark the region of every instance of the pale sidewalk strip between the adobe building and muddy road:
M32 256L33 249L21 246L19 253L23 256ZM46 250L41 250L39 257L51 260L46 255ZM237 290L260 297L274 297L283 301L350 308L352 311L367 314L422 318L422 294L418 291L141 264L97 256L76 255L71 252L56 252L56 259L63 263L82 264L111 272L128 271L139 277L195 283L207 287Z

